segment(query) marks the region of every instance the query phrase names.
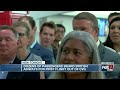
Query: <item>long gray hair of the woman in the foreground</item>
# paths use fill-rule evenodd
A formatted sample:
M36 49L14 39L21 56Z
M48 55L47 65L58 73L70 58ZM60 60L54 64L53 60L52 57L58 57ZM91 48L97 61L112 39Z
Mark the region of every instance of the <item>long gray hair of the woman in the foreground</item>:
M101 63L96 41L94 40L93 36L88 32L84 32L84 31L72 31L68 33L61 42L61 45L59 47L58 54L57 54L56 64L60 64L62 47L65 45L66 41L71 38L79 39L86 44L86 46L90 49L90 52L92 53L91 54L92 64ZM103 72L90 72L88 76L88 79L104 79L104 78L105 77ZM53 72L50 75L50 79L64 79L64 75L62 72Z

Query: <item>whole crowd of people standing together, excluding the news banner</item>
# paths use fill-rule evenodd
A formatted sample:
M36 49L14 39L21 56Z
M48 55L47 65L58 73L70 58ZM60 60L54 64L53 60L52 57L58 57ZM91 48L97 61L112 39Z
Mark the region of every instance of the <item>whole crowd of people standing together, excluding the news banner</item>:
M120 78L120 13L110 13L109 34L102 43L95 15L77 14L71 22L73 31L65 35L62 24L44 22L35 40L36 23L22 16L11 26L0 26L0 64L21 61L45 61L45 64L101 64L114 62L112 72L8 72L0 71L0 79L119 79Z

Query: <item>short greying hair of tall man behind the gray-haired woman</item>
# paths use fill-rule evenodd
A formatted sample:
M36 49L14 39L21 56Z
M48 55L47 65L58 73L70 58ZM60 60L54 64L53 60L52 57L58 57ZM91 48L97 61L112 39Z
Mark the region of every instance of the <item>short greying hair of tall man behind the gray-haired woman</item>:
M92 13L89 13L89 12L82 12L82 13L79 13L77 14L74 18L73 18L73 21L74 20L81 20L81 19L85 19L85 20L89 20L93 23L93 26L95 28L98 28L98 20L97 18L95 17L95 15L93 15Z

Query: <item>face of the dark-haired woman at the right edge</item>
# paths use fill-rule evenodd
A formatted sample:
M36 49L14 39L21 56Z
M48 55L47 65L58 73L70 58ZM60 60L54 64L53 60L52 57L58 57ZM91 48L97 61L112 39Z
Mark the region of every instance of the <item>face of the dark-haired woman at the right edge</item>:
M113 43L120 43L120 21L111 24L109 35Z

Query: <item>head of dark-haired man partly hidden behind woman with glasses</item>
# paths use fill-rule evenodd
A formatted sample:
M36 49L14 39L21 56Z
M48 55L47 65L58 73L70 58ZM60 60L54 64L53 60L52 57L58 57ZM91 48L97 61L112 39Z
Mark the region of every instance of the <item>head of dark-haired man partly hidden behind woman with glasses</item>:
M29 44L31 45L35 40L35 32L37 30L35 20L31 16L22 16L18 19L18 21L23 21L28 24L28 27L30 28Z

